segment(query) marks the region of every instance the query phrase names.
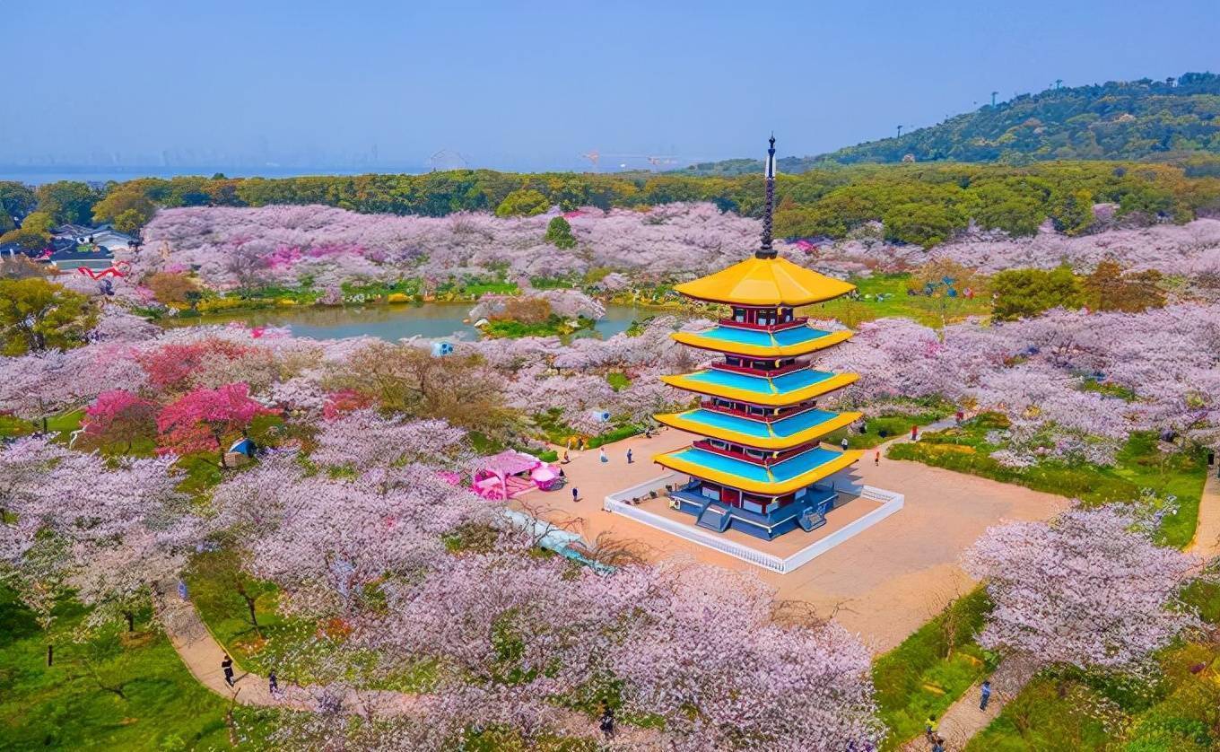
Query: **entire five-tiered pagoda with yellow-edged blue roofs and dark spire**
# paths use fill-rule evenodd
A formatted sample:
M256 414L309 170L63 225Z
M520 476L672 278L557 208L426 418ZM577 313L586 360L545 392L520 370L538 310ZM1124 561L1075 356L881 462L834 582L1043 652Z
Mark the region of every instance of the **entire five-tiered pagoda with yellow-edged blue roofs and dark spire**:
M675 508L694 515L697 525L766 540L798 526L810 531L825 525L826 513L838 499L827 479L863 454L819 442L860 419L860 413L817 407L819 398L859 375L819 371L804 358L847 341L852 332L821 331L794 314L797 306L838 298L855 286L778 258L771 247L773 205L772 136L761 247L741 264L676 287L688 298L731 309L730 317L708 331L673 334L722 360L692 374L661 377L702 399L694 409L656 415L656 420L702 438L653 458L689 476L670 499Z

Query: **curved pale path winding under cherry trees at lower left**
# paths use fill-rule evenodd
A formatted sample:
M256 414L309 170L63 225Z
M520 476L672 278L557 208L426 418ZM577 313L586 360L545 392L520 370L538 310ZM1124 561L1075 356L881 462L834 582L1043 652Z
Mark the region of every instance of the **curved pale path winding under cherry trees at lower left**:
M322 687L303 687L281 684L276 695L271 693L266 676L244 671L234 662L234 686L224 681L221 660L224 649L189 602L178 597L176 584L162 582L154 596L154 608L165 627L166 636L178 652L178 657L195 679L212 692L239 704L294 710L312 710L317 707L315 695ZM173 595L168 595L173 593ZM422 713L420 696L388 690L348 690L343 707L357 715L400 715ZM589 717L575 710L555 708L551 715L554 728L576 737L597 734L597 724ZM620 725L615 732L615 747L631 750L664 750L662 734L636 726Z

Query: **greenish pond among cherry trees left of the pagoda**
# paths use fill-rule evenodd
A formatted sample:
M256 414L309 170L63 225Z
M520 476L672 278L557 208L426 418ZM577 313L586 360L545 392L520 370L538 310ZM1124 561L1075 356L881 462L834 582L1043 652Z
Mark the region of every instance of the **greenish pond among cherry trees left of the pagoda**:
M166 326L216 325L237 321L245 326L285 326L298 337L339 339L343 337L378 337L394 342L404 337L450 337L478 339L478 330L465 322L472 303L425 303L422 305L365 305L343 308L300 308L234 311L168 319ZM626 331L632 321L662 313L660 309L631 305L608 305L606 315L594 331L601 338Z

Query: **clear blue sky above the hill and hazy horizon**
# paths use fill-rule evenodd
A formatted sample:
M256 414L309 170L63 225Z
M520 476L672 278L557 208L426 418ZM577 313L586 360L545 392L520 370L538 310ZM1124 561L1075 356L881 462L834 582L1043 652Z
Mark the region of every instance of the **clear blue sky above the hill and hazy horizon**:
M772 129L805 155L992 90L1220 70L1215 0L0 0L0 17L10 164L339 165L376 149L389 167L451 149L566 170L590 149L758 156Z

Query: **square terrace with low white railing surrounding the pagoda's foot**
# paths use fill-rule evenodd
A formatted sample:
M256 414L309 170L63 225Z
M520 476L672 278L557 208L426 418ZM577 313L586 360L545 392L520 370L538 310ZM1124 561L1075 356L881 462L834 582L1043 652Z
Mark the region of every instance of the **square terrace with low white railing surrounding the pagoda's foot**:
M693 499L683 498L683 490L688 485L686 475L671 472L611 493L605 497L603 509L688 543L711 548L770 571L786 574L865 532L900 510L904 503L900 493L871 486L847 487L845 483L837 483L842 503L825 515L824 525L810 531L798 525L769 540L750 535L739 525L730 525L723 532L700 526L699 518L691 512L681 510L683 503L693 503Z

